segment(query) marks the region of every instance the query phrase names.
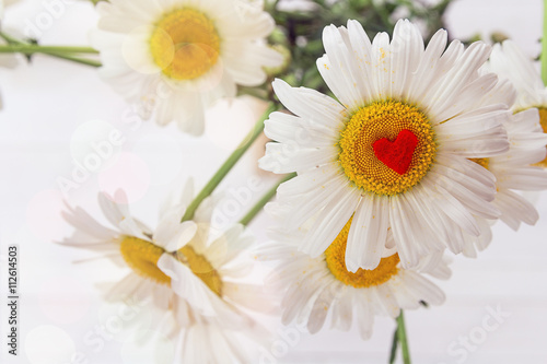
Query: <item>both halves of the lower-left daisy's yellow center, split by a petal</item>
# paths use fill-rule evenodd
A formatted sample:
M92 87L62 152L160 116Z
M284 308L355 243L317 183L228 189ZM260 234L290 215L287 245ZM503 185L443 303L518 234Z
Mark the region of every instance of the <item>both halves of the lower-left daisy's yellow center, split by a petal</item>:
M135 236L125 236L120 251L127 265L139 275L160 284L171 284L171 278L158 268L158 260L165 253L161 247ZM222 279L206 257L197 254L190 246L185 246L177 251L177 258L212 292L221 295Z

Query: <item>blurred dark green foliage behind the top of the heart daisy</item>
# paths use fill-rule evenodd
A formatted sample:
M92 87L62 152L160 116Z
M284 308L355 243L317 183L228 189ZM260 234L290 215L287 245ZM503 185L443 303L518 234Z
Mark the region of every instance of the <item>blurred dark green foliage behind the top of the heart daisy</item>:
M270 42L281 44L291 51L291 63L283 74L279 74L293 86L306 86L329 93L321 78L315 61L323 56L323 28L326 25L346 25L349 19L359 21L369 37L379 32L393 34L395 23L400 17L423 25L424 37L444 27L443 14L452 0L442 0L434 5L410 0L315 0L316 7L310 11L286 12L277 9L277 1L267 10L278 24Z

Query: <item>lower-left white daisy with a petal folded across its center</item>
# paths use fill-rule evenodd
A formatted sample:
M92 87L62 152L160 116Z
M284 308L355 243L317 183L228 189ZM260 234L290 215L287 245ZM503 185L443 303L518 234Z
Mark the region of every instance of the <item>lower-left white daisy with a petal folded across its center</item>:
M152 303L163 313L159 326L170 338L177 339L179 345L199 341L196 336L208 334L201 338L201 347L210 338L217 338L222 348L230 349L230 353L223 352L225 355L237 357L245 350L237 347L235 332L255 339L267 334L242 308L271 308L264 302L267 297L259 294L260 286L241 280L253 269L253 260L244 259L241 254L253 238L243 234L241 225L222 233L210 228L213 211L210 198L196 211L195 219L181 224L191 196L191 188L187 188L181 203L167 204L152 232L130 215L126 204L113 202L126 200L123 191L115 199L101 193L98 202L114 228L103 226L81 208L68 207L63 215L75 232L61 243L92 250L130 269L105 293L105 298L129 296ZM195 363L190 359L198 357L188 350L179 355L189 357L184 363Z

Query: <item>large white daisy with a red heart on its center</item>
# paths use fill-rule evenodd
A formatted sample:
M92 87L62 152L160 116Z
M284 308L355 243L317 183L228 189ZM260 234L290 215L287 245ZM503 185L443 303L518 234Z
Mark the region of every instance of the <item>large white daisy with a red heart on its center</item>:
M283 228L317 214L300 249L318 257L352 218L351 272L379 266L388 230L404 268L445 247L461 253L465 234L480 234L475 215L499 216L490 203L493 175L468 158L509 149L508 106L476 102L497 83L494 74L478 73L489 46L464 49L454 40L446 48L441 30L424 48L409 21L397 22L392 42L381 33L371 43L357 21L327 26L323 42L317 67L338 102L274 82L294 115L274 113L266 121L277 143L267 145L260 166L298 173L278 189Z

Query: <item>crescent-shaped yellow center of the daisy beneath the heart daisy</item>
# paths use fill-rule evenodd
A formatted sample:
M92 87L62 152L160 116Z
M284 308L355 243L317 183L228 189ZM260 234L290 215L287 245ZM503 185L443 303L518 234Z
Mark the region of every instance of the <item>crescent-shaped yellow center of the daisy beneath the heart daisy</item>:
M328 269L340 282L346 285L352 285L356 289L380 285L387 282L398 271L399 256L397 254L382 258L380 265L373 270L360 268L357 272L352 273L346 268L346 244L348 242L351 220L348 221L340 234L325 250L325 260Z

